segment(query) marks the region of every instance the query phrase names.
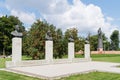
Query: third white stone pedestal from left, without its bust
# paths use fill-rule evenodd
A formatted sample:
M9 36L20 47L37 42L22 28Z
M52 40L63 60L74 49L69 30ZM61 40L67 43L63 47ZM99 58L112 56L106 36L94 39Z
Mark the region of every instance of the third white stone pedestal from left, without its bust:
M74 59L74 42L68 43L68 59Z

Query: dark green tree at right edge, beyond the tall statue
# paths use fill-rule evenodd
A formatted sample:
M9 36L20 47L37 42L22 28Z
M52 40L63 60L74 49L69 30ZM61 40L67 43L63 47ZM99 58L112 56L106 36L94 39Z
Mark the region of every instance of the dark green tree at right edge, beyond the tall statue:
M111 39L111 49L118 50L119 48L119 31L114 30L110 36Z

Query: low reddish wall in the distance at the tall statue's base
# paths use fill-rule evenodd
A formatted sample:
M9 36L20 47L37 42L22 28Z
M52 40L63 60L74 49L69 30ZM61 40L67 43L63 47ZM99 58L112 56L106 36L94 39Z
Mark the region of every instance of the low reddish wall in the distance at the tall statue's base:
M76 52L75 54L84 54L84 51ZM91 51L91 54L120 54L120 51Z

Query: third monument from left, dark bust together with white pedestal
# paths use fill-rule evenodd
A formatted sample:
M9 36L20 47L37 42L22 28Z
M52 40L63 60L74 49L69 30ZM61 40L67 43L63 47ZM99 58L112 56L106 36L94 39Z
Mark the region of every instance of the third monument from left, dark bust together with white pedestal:
M73 36L70 35L69 37L69 43L68 43L68 59L72 61L74 59L74 39Z

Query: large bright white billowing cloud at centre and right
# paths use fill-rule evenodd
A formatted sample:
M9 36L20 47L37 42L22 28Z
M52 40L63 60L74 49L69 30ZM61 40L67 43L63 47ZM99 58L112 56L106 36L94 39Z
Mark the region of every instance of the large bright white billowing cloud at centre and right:
M68 6L68 4L66 5ZM97 33L98 28L101 27L102 31L109 37L111 31L118 28L111 24L113 18L105 18L100 7L93 4L85 5L80 0L73 0L73 5L69 5L62 14L54 12L54 15L43 14L43 16L47 21L62 29L77 27L80 35L88 32Z

